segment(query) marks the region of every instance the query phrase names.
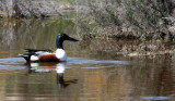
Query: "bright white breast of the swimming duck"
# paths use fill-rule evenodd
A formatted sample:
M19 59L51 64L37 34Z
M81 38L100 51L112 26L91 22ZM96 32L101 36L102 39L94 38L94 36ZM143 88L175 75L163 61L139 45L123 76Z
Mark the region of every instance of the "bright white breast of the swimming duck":
M66 61L67 60L67 53L63 49L57 49L56 50L56 56L60 60L60 61Z

